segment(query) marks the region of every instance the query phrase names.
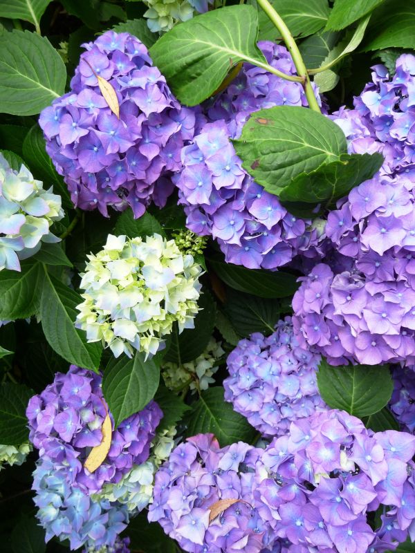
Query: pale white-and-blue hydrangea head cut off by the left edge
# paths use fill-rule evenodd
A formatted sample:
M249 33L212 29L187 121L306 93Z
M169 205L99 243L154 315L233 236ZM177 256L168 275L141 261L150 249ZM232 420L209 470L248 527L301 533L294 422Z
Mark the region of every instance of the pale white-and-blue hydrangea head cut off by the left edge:
M19 260L33 256L41 241L58 242L49 229L63 216L61 197L24 165L12 169L0 153L0 270L19 271Z

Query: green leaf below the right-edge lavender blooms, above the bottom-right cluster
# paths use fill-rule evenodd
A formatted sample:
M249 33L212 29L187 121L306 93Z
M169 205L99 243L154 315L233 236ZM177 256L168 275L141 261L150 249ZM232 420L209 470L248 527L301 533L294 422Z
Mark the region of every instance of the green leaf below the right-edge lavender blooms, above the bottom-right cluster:
M389 367L330 366L322 359L317 384L323 400L358 418L378 413L391 399L394 384Z

